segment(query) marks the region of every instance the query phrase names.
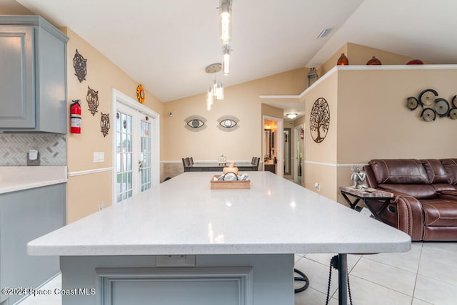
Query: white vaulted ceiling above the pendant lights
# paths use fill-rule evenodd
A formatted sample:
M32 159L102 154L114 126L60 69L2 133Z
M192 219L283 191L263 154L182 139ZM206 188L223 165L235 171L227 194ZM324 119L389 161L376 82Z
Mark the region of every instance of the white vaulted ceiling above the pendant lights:
M204 93L213 79L206 66L221 62L219 0L16 1L68 26L164 102ZM319 67L346 42L457 63L456 11L455 0L233 0L231 73L222 80ZM323 29L331 31L316 38Z

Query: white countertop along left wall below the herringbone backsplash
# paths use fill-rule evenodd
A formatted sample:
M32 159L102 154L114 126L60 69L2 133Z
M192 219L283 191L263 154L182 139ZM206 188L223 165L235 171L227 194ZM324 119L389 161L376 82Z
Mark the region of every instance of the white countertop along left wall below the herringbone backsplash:
M0 194L67 181L66 166L0 166Z

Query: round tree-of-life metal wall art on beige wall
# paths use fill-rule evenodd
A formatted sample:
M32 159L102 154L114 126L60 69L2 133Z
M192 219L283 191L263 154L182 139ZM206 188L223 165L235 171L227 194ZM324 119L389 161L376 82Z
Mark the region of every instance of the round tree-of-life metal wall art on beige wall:
M326 138L330 125L330 108L325 98L318 98L309 115L309 130L314 142L321 143Z

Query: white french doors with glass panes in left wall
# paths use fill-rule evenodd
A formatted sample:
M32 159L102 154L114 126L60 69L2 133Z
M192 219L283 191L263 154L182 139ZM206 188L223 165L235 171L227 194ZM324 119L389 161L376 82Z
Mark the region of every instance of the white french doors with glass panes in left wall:
M121 202L159 183L159 115L114 93L114 202Z

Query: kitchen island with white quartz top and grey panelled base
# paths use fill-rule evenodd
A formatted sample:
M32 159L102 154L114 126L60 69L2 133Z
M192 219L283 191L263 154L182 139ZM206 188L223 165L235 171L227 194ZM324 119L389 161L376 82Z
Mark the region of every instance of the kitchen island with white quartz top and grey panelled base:
M292 305L295 253L339 253L344 265L348 253L411 249L407 234L271 172L211 190L217 173L185 172L28 252L61 257L63 305Z

